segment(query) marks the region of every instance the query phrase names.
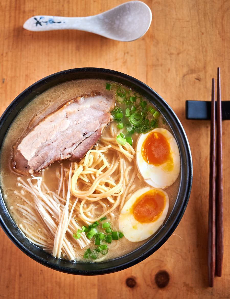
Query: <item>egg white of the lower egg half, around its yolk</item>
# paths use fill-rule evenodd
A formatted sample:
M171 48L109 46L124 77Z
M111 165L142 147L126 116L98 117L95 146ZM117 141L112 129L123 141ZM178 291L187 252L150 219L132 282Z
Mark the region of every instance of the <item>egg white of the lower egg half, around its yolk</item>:
M146 187L133 193L130 199L126 202L126 204L121 210L119 221L118 221L119 230L124 234L126 239L128 239L131 242L142 241L150 237L160 228L160 226L164 222L165 217L167 216L168 206L169 206L168 195L165 191L159 189L165 195L165 207L161 216L159 216L159 218L156 221L150 223L141 223L134 218L132 214L132 206L134 205L135 201L142 194L153 189L155 188Z

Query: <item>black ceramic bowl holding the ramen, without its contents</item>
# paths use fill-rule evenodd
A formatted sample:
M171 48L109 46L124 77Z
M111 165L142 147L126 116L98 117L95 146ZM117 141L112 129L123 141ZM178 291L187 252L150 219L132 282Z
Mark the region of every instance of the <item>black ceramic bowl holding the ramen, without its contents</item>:
M170 237L179 224L188 204L192 185L192 158L185 131L173 110L162 99L162 97L160 97L159 94L157 94L149 86L133 77L103 68L74 68L71 70L61 71L45 77L25 89L25 91L16 97L1 116L0 144L2 144L11 122L14 120L18 112L34 98L35 93L40 94L48 88L66 81L86 78L111 80L135 89L138 93L153 102L164 115L165 119L167 119L169 126L174 132L181 156L181 180L179 193L170 216L157 234L155 234L144 245L122 257L101 263L72 263L68 260L58 260L36 245L33 245L22 235L12 220L1 193L0 224L7 236L19 249L42 265L71 274L98 275L119 271L141 262L155 252Z

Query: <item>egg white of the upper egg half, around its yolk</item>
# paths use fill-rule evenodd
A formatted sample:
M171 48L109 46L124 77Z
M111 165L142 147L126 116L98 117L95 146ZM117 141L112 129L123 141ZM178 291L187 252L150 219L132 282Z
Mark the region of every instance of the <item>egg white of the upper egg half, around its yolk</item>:
M167 162L155 166L153 164L148 164L144 161L144 158L141 154L141 147L147 136L152 132L161 133L169 142L170 145L170 155L173 159L173 168L172 170L167 170ZM137 141L136 148L136 163L139 170L139 173L144 178L147 184L155 188L164 189L172 185L180 173L180 153L173 135L166 129L156 128L152 131L141 134Z

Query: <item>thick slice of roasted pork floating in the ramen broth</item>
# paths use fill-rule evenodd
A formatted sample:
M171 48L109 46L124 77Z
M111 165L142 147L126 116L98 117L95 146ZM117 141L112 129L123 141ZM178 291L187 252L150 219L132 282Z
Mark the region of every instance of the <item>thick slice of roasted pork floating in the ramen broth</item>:
M114 106L112 98L99 93L74 98L43 118L17 149L32 171L42 170L55 161L79 160L99 140L112 119L109 111Z

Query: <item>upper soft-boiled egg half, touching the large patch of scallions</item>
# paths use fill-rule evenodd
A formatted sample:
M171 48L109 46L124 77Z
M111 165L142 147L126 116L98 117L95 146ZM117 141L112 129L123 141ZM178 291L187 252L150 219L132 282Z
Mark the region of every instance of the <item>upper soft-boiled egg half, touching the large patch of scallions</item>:
M137 141L136 163L150 186L164 189L173 184L180 172L180 154L173 135L162 128L141 134Z

